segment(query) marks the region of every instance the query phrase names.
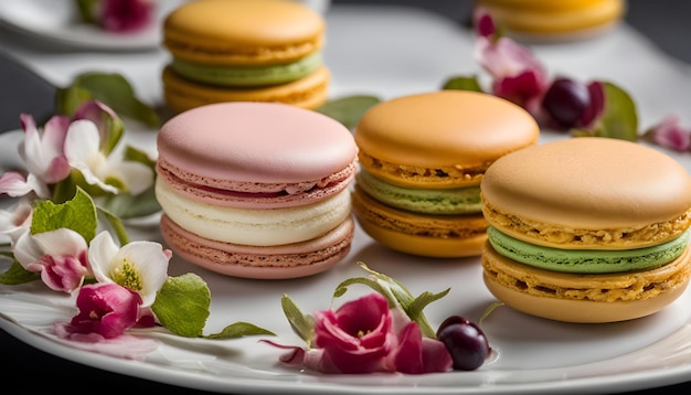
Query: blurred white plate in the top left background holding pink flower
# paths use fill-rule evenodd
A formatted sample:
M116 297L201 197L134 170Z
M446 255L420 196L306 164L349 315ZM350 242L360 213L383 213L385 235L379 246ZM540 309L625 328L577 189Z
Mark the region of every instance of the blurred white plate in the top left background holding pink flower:
M143 31L115 34L79 20L74 0L0 1L0 22L30 36L99 51L150 50L160 45L160 22L184 0L157 1L156 21Z

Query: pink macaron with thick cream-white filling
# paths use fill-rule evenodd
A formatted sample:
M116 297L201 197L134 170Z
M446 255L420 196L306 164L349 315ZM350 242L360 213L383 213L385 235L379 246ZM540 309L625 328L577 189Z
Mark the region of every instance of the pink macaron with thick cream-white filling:
M161 232L190 263L284 279L349 253L357 146L332 118L285 104L211 104L168 120L157 147Z

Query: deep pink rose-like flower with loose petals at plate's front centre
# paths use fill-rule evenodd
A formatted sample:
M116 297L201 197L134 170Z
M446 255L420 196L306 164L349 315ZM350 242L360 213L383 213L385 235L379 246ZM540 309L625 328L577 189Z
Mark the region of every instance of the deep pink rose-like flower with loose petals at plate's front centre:
M424 338L416 322L400 308L389 308L378 292L315 313L312 348L289 349L281 361L323 373L447 372L451 359L436 339Z

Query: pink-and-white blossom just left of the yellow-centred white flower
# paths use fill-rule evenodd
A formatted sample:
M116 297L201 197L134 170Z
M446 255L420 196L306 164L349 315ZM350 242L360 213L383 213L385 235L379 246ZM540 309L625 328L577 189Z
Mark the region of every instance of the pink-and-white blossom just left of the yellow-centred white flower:
M32 235L22 233L14 244L14 258L29 271L40 273L51 289L71 293L91 276L88 246L66 227Z

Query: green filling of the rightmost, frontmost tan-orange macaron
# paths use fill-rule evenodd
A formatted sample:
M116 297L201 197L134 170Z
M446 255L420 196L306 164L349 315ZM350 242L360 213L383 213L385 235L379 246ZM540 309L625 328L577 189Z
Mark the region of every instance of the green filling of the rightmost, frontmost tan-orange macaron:
M689 231L661 245L623 250L542 247L508 236L492 226L487 229L487 235L495 250L509 259L546 270L574 274L652 269L678 258L689 244Z

